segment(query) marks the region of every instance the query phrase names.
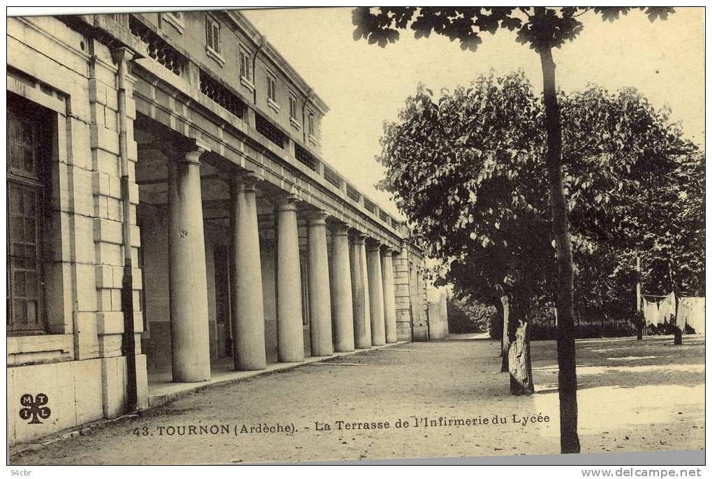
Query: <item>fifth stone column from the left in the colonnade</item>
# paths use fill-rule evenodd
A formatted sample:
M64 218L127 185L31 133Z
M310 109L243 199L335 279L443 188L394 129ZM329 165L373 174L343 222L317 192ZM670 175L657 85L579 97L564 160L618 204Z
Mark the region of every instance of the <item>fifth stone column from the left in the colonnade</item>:
M349 228L337 226L331 233L331 310L334 347L337 352L354 350L354 303L349 264Z

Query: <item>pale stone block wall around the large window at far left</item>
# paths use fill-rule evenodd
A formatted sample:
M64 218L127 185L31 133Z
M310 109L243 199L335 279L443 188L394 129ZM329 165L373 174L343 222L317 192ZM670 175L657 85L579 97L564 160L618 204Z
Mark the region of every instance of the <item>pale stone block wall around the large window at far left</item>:
M122 210L116 66L106 46L52 17L7 22L8 91L48 112L53 129L46 211L46 335L8 339L9 443L45 436L125 409L121 312ZM127 81L130 177L135 106ZM137 186L130 183L132 259L138 264ZM135 330L142 331L140 270L133 271ZM137 345L138 346L138 345ZM147 404L145 356L137 347L139 406ZM48 396L51 416L20 419L20 398Z

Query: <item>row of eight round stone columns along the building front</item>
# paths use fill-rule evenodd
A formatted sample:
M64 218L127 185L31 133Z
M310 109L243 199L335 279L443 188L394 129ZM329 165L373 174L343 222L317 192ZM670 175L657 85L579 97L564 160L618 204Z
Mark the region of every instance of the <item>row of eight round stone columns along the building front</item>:
M207 149L196 142L190 151L168 162L172 374L177 382L210 379L199 172L201 154ZM259 181L261 177L251 172L229 179L231 328L235 369L242 371L267 367L256 201ZM296 201L284 194L275 209L280 362L304 360ZM328 219L320 210L307 216L311 354L330 356L396 342L392 250Z

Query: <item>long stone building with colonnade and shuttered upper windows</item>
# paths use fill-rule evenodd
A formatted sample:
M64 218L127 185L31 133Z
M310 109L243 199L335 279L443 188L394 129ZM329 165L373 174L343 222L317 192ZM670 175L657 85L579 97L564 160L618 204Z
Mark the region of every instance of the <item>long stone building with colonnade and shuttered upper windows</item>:
M422 253L239 11L7 21L11 444L154 379L426 340Z

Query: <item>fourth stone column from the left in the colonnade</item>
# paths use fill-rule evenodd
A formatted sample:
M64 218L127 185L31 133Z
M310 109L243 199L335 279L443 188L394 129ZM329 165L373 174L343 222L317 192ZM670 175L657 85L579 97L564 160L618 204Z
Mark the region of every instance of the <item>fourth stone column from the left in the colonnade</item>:
M313 213L308 219L307 246L309 254L309 318L312 356L334 354L331 336L331 298L329 264L326 246L325 211Z

